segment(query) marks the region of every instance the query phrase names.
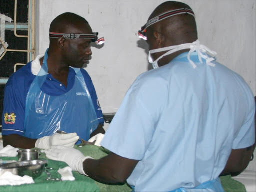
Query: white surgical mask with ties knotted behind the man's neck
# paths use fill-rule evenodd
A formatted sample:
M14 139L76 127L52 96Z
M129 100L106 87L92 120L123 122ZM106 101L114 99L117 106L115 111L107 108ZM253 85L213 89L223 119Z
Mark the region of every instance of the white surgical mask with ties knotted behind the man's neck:
M202 58L204 58L206 60L206 63L210 66L215 66L214 63L211 63L211 61L215 60L215 58L205 54L206 52L209 52L210 54L212 54L213 56L215 56L217 53L210 50L208 47L200 44L199 40L197 39L196 41L194 41L193 43L186 43L186 44L180 44L180 45L175 45L175 46L168 46L168 47L163 47L163 48L157 48L157 49L153 49L153 50L149 50L149 54L148 54L148 61L149 63L152 64L153 68L159 68L158 66L158 60L160 60L162 57L167 56L169 54L172 54L174 52L177 52L179 50L184 50L184 49L190 49L190 51L187 54L187 59L189 60L189 62L191 63L191 65L193 66L193 68L196 68L195 63L190 59L190 54L194 51L197 52L198 54L198 58L200 63L202 63ZM151 54L156 53L156 52L162 52L162 51L166 51L169 50L168 52L166 52L165 54L161 55L159 58L157 58L155 61L153 61Z

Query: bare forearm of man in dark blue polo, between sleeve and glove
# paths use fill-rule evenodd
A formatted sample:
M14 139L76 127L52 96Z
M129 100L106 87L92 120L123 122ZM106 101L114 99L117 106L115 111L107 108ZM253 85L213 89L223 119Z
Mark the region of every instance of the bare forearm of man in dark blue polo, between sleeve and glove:
M35 142L37 139L31 139L24 136L20 136L18 134L9 134L9 135L3 135L3 146L7 146L8 144L13 147L18 148L34 148Z

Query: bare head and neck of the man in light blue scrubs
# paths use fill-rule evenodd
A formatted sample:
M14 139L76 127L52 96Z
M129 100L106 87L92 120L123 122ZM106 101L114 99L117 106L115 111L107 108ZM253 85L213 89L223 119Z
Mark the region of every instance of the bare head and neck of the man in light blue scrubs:
M164 13L167 14L168 12L177 9L190 9L190 12L183 11L181 14L175 14L173 16L164 18ZM155 10L149 16L148 21L153 18L159 19L160 15L163 19L149 25L145 31L149 50L192 43L197 40L194 14L192 9L187 4L176 1L164 2L155 8ZM160 60L158 60L158 66L163 66L169 63L177 55L186 51L189 51L189 49L179 50L162 57ZM155 52L151 54L151 56L153 60L156 60L166 52L168 52L168 50Z

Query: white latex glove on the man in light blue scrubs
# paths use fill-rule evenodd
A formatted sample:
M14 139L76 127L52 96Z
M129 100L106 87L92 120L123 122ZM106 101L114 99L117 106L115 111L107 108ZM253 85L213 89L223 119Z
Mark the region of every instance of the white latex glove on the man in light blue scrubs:
M85 174L83 170L83 161L91 158L84 156L79 150L67 146L52 146L45 150L45 154L49 159L64 161L72 168L73 171L78 171L80 174ZM93 159L93 158L92 158Z

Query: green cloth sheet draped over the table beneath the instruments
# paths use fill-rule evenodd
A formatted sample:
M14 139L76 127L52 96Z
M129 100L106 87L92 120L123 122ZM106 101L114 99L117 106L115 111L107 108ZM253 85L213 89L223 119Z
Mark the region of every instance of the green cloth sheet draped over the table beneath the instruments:
M85 145L85 146L75 146L74 148L81 151L85 156L91 156L94 159L99 159L107 154L110 151L103 147L98 147L94 145ZM2 160L18 160L18 157L0 157ZM65 162L50 160L46 157L45 153L40 153L40 159L47 159L48 163L46 167L53 168L52 170L47 169L52 178L61 178L61 175L57 172L59 168L64 168L68 166ZM60 192L73 192L73 191L110 191L110 192L130 192L131 188L127 183L125 184L105 184L97 182L87 176L79 174L77 171L73 171L73 176L75 181L51 181L46 180L48 175L46 172L43 172L38 178L34 179L34 184L23 184L19 186L0 186L0 192L51 192L51 191L60 191ZM230 175L220 177L222 186L225 192L246 192L244 185L241 182L238 182ZM168 181L166 181L168 182Z

